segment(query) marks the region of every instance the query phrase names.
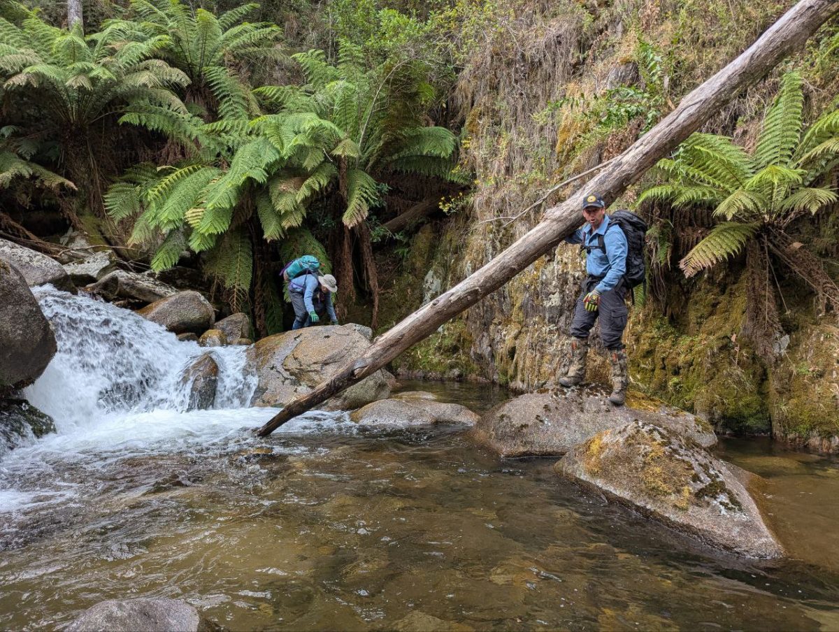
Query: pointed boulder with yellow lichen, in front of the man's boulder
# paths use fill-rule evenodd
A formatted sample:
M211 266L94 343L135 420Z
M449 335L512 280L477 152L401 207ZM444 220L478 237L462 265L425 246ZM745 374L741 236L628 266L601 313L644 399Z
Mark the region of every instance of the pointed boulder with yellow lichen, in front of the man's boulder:
M750 557L783 555L726 464L663 427L633 421L602 431L573 447L555 470L711 546Z

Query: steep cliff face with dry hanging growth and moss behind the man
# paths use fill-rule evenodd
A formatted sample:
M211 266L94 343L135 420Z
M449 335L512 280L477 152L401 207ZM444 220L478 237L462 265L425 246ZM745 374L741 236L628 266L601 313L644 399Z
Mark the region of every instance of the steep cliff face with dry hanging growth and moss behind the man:
M476 173L474 193L456 216L426 225L414 237L400 274L386 288L383 324L407 315L529 231L544 206L520 213L543 191L620 153L790 3L754 4L527 2L499 18L456 90L466 119L466 162ZM810 97L814 109L836 93L825 66L836 64L836 55L822 55L824 40L835 30L825 29L821 40L789 62L816 88ZM769 77L704 131L753 142L776 87L777 76ZM585 180L557 191L549 205ZM629 191L616 206L636 208L637 195L638 189ZM779 438L836 448L835 315L812 314L806 298L789 306L801 317L785 323L786 355L767 366L740 336L742 265L733 262L692 282L673 269L695 243L691 220L696 217L674 217L669 246L674 252L669 261L659 261L648 300L639 295L632 308L626 342L634 388L727 429L769 431L771 419ZM560 245L405 353L398 368L489 379L522 391L554 386L565 371L567 331L583 269L579 249ZM606 361L597 348L590 360L590 378L605 379Z

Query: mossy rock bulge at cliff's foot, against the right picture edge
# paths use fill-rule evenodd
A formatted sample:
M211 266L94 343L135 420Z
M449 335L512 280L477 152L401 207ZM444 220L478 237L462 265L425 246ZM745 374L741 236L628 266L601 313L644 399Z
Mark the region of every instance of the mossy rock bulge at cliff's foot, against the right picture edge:
M794 334L771 384L773 436L839 452L839 327L821 322Z

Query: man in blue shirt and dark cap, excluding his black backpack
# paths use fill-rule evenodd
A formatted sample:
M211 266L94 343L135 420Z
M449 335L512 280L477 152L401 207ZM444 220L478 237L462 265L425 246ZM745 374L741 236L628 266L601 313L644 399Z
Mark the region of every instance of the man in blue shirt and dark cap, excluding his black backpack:
M567 243L579 243L586 250L586 272L582 293L576 301L571 322L571 366L560 379L565 387L580 384L586 378L588 333L600 316L600 337L612 362L612 394L609 401L623 405L628 384L627 353L623 347L623 329L627 326L626 273L628 245L620 227L606 214L606 203L597 194L586 196L582 203L586 225L577 228ZM612 230L609 228L612 227Z

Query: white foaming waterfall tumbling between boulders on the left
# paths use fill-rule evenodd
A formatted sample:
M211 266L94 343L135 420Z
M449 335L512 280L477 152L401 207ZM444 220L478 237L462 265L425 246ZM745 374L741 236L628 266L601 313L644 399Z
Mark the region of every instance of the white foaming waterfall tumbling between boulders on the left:
M59 433L152 410L186 410L186 368L211 353L219 368L215 409L248 406L256 378L246 347L199 347L154 322L85 295L35 288L55 329L58 352L26 398L55 419Z

